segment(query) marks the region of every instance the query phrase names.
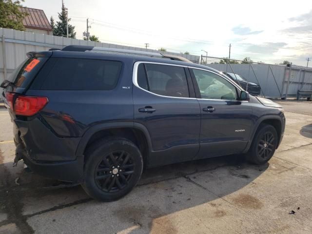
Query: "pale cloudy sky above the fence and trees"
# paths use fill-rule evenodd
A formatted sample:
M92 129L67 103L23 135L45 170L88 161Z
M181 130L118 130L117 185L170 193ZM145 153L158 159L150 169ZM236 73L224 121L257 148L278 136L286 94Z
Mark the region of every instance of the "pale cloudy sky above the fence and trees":
M61 0L25 0L58 21ZM91 35L101 42L193 55L249 57L307 65L312 58L311 0L64 0L82 39L89 18ZM309 63L312 67L312 61Z

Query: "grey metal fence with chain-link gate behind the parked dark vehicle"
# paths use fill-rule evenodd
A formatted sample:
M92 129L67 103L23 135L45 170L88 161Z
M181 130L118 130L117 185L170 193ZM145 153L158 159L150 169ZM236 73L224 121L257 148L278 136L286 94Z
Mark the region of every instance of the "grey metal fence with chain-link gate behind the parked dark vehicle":
M268 98L296 97L298 90L312 90L311 68L206 56L202 56L201 64L238 74L249 82L259 84L261 96Z

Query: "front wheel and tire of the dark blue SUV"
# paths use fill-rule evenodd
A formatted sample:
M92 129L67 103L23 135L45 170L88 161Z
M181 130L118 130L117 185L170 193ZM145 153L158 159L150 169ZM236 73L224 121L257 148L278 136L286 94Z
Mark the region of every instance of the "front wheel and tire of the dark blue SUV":
M277 132L272 125L260 124L249 152L246 154L247 161L257 165L267 163L274 155L277 139Z

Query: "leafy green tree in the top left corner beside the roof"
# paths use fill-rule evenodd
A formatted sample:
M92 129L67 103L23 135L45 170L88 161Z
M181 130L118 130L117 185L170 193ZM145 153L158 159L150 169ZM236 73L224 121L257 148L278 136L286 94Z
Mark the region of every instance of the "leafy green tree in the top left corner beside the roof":
M0 0L0 28L25 30L23 19L28 14L20 11L20 7L23 7L21 1L24 0Z

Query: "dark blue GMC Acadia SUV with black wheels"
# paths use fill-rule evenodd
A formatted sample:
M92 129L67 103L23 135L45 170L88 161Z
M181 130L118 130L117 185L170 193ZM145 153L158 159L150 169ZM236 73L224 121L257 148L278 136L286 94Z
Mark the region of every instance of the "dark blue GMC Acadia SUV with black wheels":
M90 46L27 55L1 84L15 162L99 200L129 193L143 167L232 154L266 163L283 137L280 105L206 66Z

